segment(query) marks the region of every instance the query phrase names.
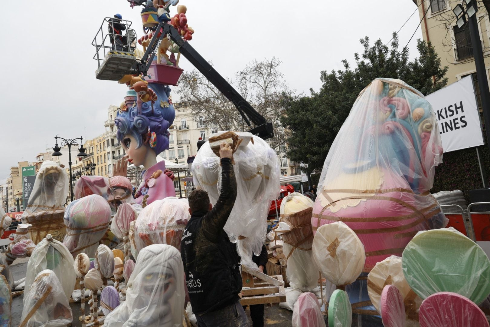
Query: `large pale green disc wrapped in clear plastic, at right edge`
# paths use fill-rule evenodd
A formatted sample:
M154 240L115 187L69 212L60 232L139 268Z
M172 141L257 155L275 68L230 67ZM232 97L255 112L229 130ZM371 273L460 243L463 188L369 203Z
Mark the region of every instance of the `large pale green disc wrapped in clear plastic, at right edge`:
M441 259L441 253L447 253ZM403 274L422 299L454 292L479 304L490 294L490 260L453 227L420 231L403 251Z

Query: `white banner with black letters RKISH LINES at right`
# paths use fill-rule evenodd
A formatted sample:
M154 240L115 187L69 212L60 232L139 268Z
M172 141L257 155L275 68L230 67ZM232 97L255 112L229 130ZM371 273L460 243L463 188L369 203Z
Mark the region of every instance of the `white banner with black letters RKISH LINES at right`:
M471 75L425 99L436 113L444 152L485 144Z

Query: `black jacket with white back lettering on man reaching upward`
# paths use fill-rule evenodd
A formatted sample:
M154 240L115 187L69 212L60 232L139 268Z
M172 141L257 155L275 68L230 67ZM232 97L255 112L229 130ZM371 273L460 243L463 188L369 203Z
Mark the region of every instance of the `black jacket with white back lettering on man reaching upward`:
M193 212L180 244L189 298L195 314L221 309L242 291L235 244L223 230L237 197L231 159L221 159L221 195L211 211Z

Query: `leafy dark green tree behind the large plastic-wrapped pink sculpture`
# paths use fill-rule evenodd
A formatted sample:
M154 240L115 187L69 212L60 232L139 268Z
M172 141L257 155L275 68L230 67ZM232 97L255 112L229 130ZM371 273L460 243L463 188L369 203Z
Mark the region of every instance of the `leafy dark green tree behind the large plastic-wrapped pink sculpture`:
M291 160L308 164L307 172L323 167L330 146L359 92L373 79L399 78L425 95L447 84L444 75L448 68L441 67L441 59L430 43L417 40L419 56L410 61L408 50L399 50L396 33L393 33L391 47L381 40L371 46L368 37L360 42L364 52L362 55L354 54L353 69L343 60L343 70L321 72L323 85L319 92L311 89L309 97L284 95L285 114L281 123L289 130L288 156Z

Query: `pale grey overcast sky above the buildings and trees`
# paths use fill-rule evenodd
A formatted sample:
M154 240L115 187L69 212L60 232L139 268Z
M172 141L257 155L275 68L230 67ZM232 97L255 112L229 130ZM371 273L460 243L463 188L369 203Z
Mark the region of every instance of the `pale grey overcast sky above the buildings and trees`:
M412 0L180 0L195 29L192 46L224 77L254 60L278 57L297 93L318 90L320 71L342 68L362 52L359 39L388 42L415 11ZM104 17L116 13L143 35L141 7L125 0L3 1L2 137L0 183L18 161L35 159L54 135L92 139L104 132L107 108L123 101L126 87L95 78L91 45ZM171 14L176 9L172 7ZM415 13L399 33L403 47L419 24ZM418 27L408 48L417 54ZM194 67L181 58L179 66ZM382 77L382 76L380 76ZM173 92L174 101L178 100Z

